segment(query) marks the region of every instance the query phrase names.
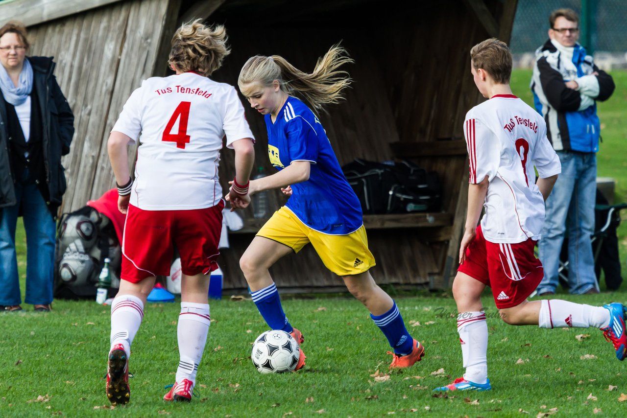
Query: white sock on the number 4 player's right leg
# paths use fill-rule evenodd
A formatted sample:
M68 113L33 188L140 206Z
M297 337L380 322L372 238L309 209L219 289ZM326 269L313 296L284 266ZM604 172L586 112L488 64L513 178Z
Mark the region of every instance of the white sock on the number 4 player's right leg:
M204 345L207 342L211 318L207 303L181 302L179 314L179 367L176 369L176 382L183 379L196 384L196 372L203 358Z

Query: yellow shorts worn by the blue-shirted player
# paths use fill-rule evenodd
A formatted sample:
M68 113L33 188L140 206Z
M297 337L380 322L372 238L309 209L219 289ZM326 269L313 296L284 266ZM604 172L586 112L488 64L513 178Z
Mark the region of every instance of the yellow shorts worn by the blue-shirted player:
M324 234L303 224L285 206L276 211L256 235L287 245L295 253L312 243L322 263L338 276L364 273L376 264L368 249L363 225L347 235Z

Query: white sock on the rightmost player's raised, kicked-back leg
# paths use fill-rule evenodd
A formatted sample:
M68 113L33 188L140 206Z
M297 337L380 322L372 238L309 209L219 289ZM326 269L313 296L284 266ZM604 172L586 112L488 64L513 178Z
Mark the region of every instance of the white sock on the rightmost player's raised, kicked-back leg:
M603 306L582 305L566 300L542 300L540 328L601 328L609 324L609 310Z

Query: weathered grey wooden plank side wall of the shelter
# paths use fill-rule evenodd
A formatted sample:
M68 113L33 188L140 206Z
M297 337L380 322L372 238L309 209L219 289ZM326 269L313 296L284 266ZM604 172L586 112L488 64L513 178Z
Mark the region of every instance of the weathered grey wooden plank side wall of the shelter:
M169 41L174 32L171 16L176 19L179 6L180 0L124 1L29 28L30 55L55 57L56 78L75 115L70 154L63 157L68 190L62 211L85 206L115 185L109 132L141 81L165 73L155 68L157 51L164 34Z

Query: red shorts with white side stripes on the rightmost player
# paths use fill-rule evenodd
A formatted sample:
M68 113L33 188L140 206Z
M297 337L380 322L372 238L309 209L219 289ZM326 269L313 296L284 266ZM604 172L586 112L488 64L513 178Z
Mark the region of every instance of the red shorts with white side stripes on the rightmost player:
M486 241L481 226L466 249L466 259L457 271L492 288L498 309L512 308L526 300L544 275L540 260L535 258L533 239L517 244Z

